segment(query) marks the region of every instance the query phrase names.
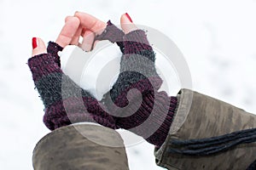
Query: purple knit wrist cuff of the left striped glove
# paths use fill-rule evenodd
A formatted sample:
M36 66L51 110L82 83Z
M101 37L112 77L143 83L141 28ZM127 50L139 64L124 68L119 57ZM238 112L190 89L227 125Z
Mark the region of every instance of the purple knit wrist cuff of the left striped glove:
M95 99L68 98L45 109L44 124L50 130L76 122L97 122L104 127L115 129L113 116L102 109Z

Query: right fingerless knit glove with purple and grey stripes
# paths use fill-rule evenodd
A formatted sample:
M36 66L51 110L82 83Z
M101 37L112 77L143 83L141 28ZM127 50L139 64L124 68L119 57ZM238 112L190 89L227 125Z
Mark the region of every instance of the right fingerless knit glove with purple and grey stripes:
M155 54L143 30L125 35L110 21L106 30L97 39L117 42L123 55L119 77L104 96L104 103L116 116L117 127L160 146L172 124L177 98L169 97L166 92L158 92L162 80L155 70Z

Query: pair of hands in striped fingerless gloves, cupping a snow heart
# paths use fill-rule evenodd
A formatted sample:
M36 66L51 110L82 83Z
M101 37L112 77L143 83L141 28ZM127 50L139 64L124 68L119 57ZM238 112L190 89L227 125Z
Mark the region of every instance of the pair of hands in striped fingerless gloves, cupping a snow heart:
M65 25L55 41L61 47L54 42L49 42L49 49L47 50L40 38L33 38L32 56L43 55L28 61L36 88L38 88L40 97L44 102L45 125L54 130L70 124L70 118L73 122L96 121L113 129L125 128L142 136L150 144L160 146L169 132L177 99L170 99L166 92L157 92L162 80L155 70L155 54L148 43L146 33L143 30L137 30L137 26L132 23L128 14L122 14L120 19L123 32L116 27L111 27L111 29L107 27L111 24L109 22L107 24L90 14L80 12L75 13L74 16L68 16L65 21ZM104 32L102 33L102 31ZM126 35L124 36L124 34ZM115 39L118 39L120 35L123 38L122 43ZM79 43L80 37L83 37L81 43ZM120 50L123 50L123 58L120 61L121 73L109 91L110 96L101 101L102 103L99 103L90 93L82 89L82 99L88 114L86 111L80 110L80 106L83 105L80 103L80 98L76 97L76 92L73 92L73 89L79 87L63 74L59 67L59 56L56 53L69 44L90 51L95 40L105 38L110 42L117 42ZM48 55L47 51L52 55ZM145 76L140 72L146 72ZM67 116L67 111L63 106L64 101L61 94L63 77L68 83L67 92L64 93L67 97L64 99L65 103L68 104L68 111L71 111L70 117ZM143 94L141 102L137 97L138 91L131 93L131 98L128 97L128 92L132 88L137 88ZM128 98L130 99L128 100ZM118 107L114 107L109 102L110 99ZM115 114L114 116L102 109L102 106L105 107L104 103L110 112ZM127 105L129 107L125 111L119 110L119 107L124 108ZM131 113L134 114L131 115Z

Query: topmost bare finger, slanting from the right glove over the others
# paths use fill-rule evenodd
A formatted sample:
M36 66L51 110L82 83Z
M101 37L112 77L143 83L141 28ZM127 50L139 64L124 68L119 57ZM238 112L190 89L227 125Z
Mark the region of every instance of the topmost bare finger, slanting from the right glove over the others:
M105 22L96 19L96 17L90 14L76 12L75 16L79 18L81 26L95 32L96 35L101 34L107 26Z

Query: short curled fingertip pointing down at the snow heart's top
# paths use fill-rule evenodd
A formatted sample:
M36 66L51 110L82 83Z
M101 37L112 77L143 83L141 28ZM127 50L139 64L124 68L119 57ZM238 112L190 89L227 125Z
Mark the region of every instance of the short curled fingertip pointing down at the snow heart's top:
M94 42L95 33L90 30L84 31L83 42L80 48L84 49L84 51L90 51L92 48L92 43Z

